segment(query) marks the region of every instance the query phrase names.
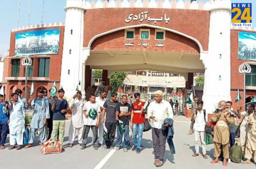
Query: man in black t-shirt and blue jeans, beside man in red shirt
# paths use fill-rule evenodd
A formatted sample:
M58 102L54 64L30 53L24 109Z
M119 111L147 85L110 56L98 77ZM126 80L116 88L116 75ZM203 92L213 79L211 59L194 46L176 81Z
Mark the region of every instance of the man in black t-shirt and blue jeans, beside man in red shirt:
M127 102L128 98L126 95L122 96L122 102L116 105L116 116L119 117L119 123L117 128L117 140L116 150L119 150L122 146L122 139L124 135L124 152L128 151L129 137L129 116L131 116L131 105ZM122 123L123 122L123 123ZM122 130L124 125L125 131Z

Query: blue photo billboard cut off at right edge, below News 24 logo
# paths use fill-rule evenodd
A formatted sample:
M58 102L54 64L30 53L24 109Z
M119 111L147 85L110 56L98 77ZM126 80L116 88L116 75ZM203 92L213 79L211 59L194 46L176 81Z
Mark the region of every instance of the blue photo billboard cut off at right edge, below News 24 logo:
M238 33L238 59L256 60L256 33Z

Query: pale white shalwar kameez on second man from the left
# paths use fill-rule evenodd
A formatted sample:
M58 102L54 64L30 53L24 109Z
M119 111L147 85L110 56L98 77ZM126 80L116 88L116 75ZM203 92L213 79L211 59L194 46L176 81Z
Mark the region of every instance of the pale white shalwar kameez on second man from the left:
M7 110L6 110L7 111ZM23 102L18 101L16 105L12 104L10 113L10 144L23 144L23 132L25 131L25 109Z

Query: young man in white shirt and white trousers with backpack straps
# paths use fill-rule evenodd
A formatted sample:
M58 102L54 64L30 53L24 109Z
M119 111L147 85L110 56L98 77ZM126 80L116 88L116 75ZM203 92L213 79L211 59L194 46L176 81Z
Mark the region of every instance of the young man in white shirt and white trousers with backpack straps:
M206 113L205 110L203 110L203 104L204 102L202 100L199 100L197 102L197 109L195 109L194 113L194 130L195 130L195 149L196 152L193 154L193 157L199 156L199 139L201 139L202 148L203 148L203 157L204 159L207 159L206 155L206 144L204 140L204 129L205 129L205 121L206 121Z

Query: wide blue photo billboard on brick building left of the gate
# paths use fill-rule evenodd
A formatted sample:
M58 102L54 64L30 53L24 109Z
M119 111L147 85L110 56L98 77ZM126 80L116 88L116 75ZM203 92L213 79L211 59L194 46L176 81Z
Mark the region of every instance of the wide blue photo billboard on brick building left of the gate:
M58 54L60 29L21 32L15 35L15 56Z

